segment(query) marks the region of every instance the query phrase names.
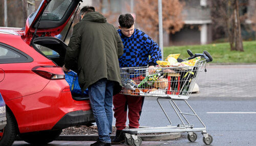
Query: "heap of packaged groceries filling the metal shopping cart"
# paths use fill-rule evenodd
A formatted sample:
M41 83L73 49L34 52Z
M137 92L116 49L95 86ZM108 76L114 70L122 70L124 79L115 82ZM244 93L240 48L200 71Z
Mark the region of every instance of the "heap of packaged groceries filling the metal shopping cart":
M187 95L201 57L178 62L179 56L180 54L170 54L165 61L158 60L154 73L150 73L152 71L148 71L151 69L148 67L134 67L131 70L125 68L122 72L124 77L133 78L122 81L123 88L126 88L122 92L141 96Z

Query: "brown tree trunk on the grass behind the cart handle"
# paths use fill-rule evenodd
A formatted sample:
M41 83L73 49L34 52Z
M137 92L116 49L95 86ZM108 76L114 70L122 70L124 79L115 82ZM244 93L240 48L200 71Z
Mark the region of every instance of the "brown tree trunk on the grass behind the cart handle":
M234 16L236 18L236 51L241 51L243 52L244 51L244 48L243 48L243 39L242 39L242 36L241 36L241 23L240 23L240 17L239 17L239 3L238 3L238 0L236 0L236 4L235 4L236 8L235 8L235 12L236 12L236 15Z

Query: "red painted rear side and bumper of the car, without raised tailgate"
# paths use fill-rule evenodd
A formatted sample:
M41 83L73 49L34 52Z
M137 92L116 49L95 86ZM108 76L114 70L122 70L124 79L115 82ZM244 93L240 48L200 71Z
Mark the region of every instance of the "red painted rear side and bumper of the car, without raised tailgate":
M4 75L0 74L4 76L0 92L16 118L20 133L51 130L65 114L91 110L89 100L72 99L65 79L48 80L32 71L37 66L56 65L24 42L21 36L1 34L0 40L33 58L27 63L0 64L4 70ZM63 74L61 67L58 69ZM55 68L53 71L56 72Z

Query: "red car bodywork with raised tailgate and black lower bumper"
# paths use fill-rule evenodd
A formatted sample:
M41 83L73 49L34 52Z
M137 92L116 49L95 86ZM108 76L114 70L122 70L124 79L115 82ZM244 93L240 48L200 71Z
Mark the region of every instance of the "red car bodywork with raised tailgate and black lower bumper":
M58 3L62 5L60 2L54 1L55 4L52 4L58 7ZM48 22L51 19L45 20L44 25L37 29L36 37L48 36L48 39L52 39L63 30L80 1L65 2L69 3L68 10L61 19L52 22L53 24L56 22L57 25L50 28ZM55 64L52 58L40 52L35 44L30 45L38 18L42 14L49 14L43 12L47 9L45 6L50 5L49 3L51 4L51 1L42 0L36 15L30 15L34 18L30 25L29 18L27 19L25 29L0 27L0 47L20 52L29 58L24 62L0 62L0 92L6 106L15 117L19 133L63 129L94 122L89 99L80 100L79 96L78 98L72 96L62 68ZM43 28L44 26L46 29ZM44 43L49 43L48 41ZM59 43L63 42L59 40ZM65 46L62 44L59 47L61 49L58 51L61 52L54 58L57 58L61 64L66 48L63 48L62 52L62 47ZM54 78L51 75L54 75ZM3 133L0 131L0 135Z

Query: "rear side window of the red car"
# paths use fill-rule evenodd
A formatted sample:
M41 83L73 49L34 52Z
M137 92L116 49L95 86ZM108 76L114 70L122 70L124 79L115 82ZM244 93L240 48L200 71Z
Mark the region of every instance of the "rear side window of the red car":
M0 45L0 64L1 63L17 63L17 62L27 62L29 60L23 54L12 50L9 47Z

